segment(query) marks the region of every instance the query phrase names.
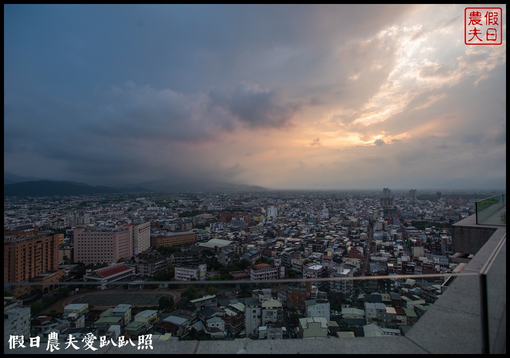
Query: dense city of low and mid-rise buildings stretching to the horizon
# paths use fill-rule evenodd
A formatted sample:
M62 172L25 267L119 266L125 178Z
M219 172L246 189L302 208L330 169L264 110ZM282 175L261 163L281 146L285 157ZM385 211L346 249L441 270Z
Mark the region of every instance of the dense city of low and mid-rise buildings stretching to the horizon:
M4 306L16 317L6 341L14 332L43 345L50 335L54 344L87 335L154 342L405 335L466 262L453 252L452 224L493 194L5 197Z

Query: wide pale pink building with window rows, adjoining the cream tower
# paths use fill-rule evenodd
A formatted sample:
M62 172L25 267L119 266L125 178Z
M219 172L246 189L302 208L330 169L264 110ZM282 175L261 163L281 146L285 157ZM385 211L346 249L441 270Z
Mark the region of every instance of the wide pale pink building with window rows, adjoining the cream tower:
M84 264L116 263L133 256L133 226L125 224L120 229L86 231L74 228L74 261Z

